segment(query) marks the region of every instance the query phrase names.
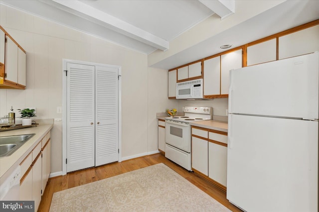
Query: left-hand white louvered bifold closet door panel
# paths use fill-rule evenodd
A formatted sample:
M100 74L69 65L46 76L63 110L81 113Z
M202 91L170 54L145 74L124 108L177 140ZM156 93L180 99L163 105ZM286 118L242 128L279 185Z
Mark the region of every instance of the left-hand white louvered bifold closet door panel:
M95 165L95 67L67 63L67 172Z

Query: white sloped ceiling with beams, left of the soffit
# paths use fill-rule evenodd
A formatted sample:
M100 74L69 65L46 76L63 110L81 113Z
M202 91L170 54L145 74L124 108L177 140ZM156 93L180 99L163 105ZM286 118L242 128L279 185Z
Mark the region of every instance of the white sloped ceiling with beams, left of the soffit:
M207 2L213 2L207 4ZM150 54L216 13L231 14L225 0L1 0L116 44ZM207 4L207 6L205 6Z

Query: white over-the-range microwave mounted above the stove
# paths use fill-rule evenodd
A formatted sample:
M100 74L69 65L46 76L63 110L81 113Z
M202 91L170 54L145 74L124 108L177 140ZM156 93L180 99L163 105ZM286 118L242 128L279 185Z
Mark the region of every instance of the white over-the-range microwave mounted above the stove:
M176 99L202 99L203 79L176 83Z

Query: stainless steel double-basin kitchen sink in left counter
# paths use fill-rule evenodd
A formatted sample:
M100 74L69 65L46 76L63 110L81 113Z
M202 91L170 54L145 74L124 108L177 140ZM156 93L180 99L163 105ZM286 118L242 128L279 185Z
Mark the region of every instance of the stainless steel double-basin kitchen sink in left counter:
M35 134L0 137L0 158L7 157L20 148Z

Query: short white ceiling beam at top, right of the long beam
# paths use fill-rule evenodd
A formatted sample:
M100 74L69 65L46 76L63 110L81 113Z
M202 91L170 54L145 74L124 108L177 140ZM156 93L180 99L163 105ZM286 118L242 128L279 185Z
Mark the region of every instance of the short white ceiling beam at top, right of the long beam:
M213 12L224 19L235 13L235 0L199 0Z

